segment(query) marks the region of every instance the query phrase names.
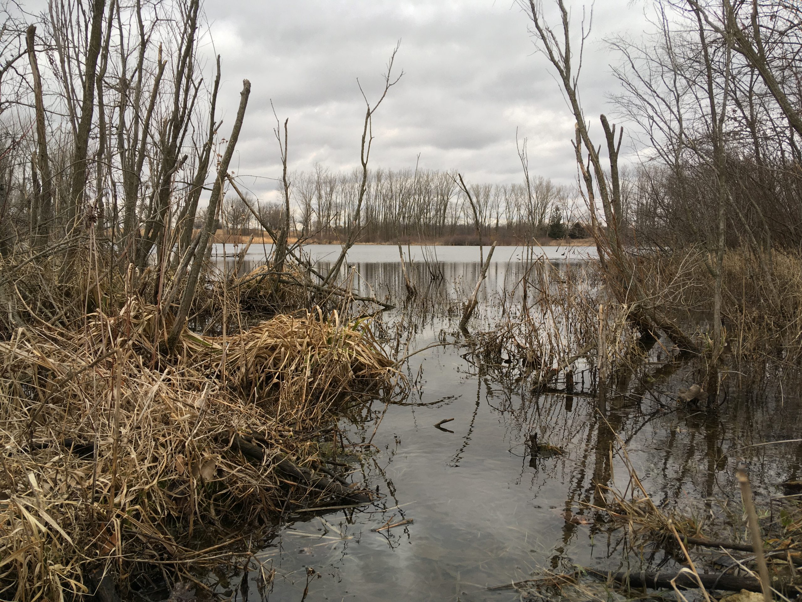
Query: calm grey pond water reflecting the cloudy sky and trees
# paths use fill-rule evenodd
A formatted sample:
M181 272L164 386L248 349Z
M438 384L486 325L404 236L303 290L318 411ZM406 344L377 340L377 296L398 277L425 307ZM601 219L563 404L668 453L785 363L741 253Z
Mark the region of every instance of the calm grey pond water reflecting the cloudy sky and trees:
M313 247L311 254L327 267L330 250ZM571 250L571 258L583 252ZM380 318L381 329L397 333L410 351L456 340L460 303L479 272L478 249L438 247L444 278L432 284L423 254L412 248L419 300ZM564 261L557 250L547 254ZM490 327L506 303L516 303L504 291L520 281L522 258L520 249L496 250L472 328ZM354 247L349 262L363 291L403 300L397 247ZM383 499L358 509L290 515L257 554L265 570L275 569L273 583L257 587L251 573L246 588L234 579L218 591L229 588L237 600L302 600L305 588L306 600L521 600L516 590L496 586L543 569L677 566L659 548L640 558L627 553L626 531L590 507L603 504L598 486L624 490L630 479L611 449L619 439L626 443L658 506L692 510L700 521L716 517L717 528L726 528L720 519L725 510L740 512L733 501L739 462L747 463L766 506L781 494L780 482L802 473L799 443L750 447L796 438L800 402L766 385L741 382L737 392L734 374L718 408L683 409L672 400L678 387L694 381L685 364L655 359L644 369L645 378L622 383L626 395L600 408L582 374L573 395L534 395L503 367L473 363L465 345L412 356L405 365L410 397L388 406L376 401L365 421L342 425L350 441L372 437L375 448L352 478ZM447 430L435 428L446 418L453 418ZM564 454L527 458L524 444L534 432ZM585 518L566 520L566 511ZM372 531L404 520L410 522Z

